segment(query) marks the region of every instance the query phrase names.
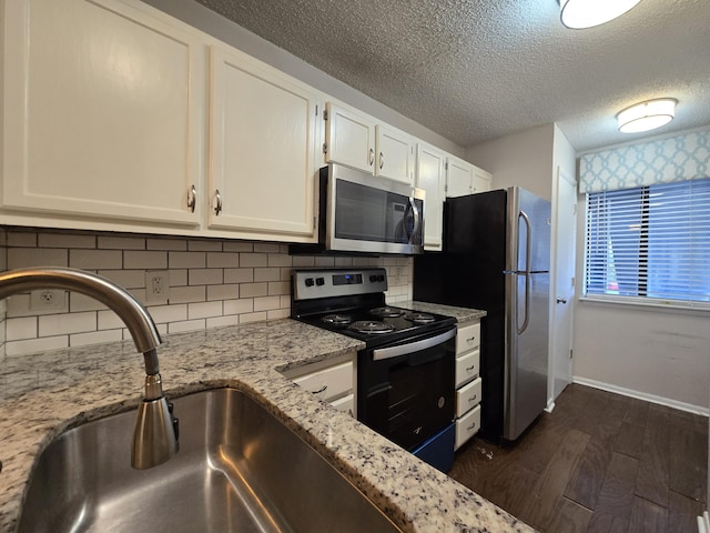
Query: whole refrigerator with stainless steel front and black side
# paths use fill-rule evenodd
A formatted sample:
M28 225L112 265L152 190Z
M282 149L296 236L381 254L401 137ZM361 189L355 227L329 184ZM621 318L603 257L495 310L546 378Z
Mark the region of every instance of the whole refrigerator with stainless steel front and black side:
M425 220L426 222L426 220ZM483 309L481 434L516 440L547 404L550 202L514 187L449 198L444 251L414 259L414 299Z

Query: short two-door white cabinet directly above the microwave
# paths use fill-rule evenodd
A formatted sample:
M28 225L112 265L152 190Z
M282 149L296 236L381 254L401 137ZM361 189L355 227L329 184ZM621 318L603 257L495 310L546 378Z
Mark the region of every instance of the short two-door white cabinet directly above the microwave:
M372 117L326 104L325 162L413 184L414 138Z

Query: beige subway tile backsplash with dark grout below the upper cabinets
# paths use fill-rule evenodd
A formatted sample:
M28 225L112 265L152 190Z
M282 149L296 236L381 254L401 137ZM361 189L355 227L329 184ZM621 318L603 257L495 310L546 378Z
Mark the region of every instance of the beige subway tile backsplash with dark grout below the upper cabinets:
M288 255L287 245L221 239L0 230L0 270L71 266L95 272L145 304L161 334L204 330L291 312L291 271L308 266L385 266L387 302L412 299L410 258ZM169 299L146 303L146 271L166 271ZM30 294L0 303L2 356L130 339L101 303L65 293L60 310L38 311Z

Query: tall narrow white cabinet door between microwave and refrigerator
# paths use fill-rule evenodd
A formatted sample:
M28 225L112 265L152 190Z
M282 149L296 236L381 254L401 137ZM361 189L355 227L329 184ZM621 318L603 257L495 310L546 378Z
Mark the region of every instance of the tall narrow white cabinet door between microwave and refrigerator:
M416 187L424 199L424 249L442 250L446 153L428 144L417 144Z

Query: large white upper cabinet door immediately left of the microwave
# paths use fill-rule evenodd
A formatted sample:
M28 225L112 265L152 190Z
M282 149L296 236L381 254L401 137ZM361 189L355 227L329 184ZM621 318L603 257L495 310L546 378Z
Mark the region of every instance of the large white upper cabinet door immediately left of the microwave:
M312 240L315 92L237 50L211 52L210 228Z

